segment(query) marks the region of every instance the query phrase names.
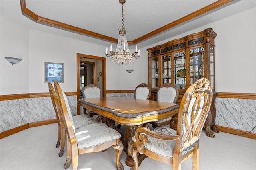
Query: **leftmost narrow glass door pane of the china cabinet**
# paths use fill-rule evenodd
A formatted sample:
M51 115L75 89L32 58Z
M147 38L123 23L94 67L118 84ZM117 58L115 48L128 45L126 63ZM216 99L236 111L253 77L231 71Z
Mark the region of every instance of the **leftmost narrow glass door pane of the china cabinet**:
M159 88L159 57L152 57L151 59L151 88Z

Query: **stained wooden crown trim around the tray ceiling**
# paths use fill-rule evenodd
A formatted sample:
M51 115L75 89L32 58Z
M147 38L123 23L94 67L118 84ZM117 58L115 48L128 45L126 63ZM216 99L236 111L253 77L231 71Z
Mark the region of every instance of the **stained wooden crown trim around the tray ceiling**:
M133 44L136 44L136 43L139 43L141 41L144 41L154 35L157 35L163 31L166 31L172 27L175 27L181 23L184 23L188 20L191 20L193 18L196 18L202 14L205 14L207 12L210 12L211 10L214 10L216 8L219 8L220 6L223 6L225 4L228 4L229 2L232 2L233 0L218 0L208 6L205 6L204 8L201 8L195 12L192 12L176 21L173 21L171 23L168 23L167 25L164 25L163 27L160 27L150 33L147 33L146 35L143 35L137 39L134 39L133 41L128 41L128 44L130 45L133 45ZM89 37L94 37L94 38L97 38L97 39L103 39L105 41L109 41L109 42L114 42L114 43L117 43L118 42L118 39L116 38L112 38L112 37L108 37L106 35L102 35L102 34L99 34L99 33L95 33L95 32L92 32L92 31L88 31L86 29L82 29L82 28L79 28L79 27L74 27L72 25L68 25L66 23L62 23L62 22L58 22L58 21L55 21L55 20L51 20L51 19L48 19L48 18L44 18L44 17L41 17L41 16L38 16L37 14L35 14L34 12L32 12L31 10L29 10L28 8L26 8L26 0L20 0L20 6L21 6L21 12L22 12L22 15L26 16L27 18L31 19L32 21L36 22L36 23L39 23L39 24L42 24L42 25L48 25L50 27L56 27L58 29L64 29L66 31L71 31L71 32L74 32L74 33L78 33L78 34L82 34L82 35L86 35L86 36L89 36Z

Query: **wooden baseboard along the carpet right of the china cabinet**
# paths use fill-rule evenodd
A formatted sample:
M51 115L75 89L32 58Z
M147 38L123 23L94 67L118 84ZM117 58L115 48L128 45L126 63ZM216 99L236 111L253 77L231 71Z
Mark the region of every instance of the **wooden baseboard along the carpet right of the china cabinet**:
M234 135L240 135L242 137L248 137L248 138L251 138L251 139L256 139L256 133L252 133L252 132L248 133L247 131L232 129L230 127L223 127L223 126L219 126L219 125L216 125L216 127L221 132L230 133L230 134L234 134Z

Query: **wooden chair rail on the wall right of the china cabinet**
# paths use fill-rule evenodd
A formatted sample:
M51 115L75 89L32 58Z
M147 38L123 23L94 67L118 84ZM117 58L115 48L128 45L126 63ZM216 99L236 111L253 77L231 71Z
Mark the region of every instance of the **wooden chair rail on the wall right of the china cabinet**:
M224 93L218 92L217 98L256 99L256 93Z

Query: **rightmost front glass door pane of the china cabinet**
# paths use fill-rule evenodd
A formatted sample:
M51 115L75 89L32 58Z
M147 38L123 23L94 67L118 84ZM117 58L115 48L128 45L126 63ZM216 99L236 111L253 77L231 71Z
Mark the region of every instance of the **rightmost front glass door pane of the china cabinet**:
M204 47L190 49L190 85L204 77Z

